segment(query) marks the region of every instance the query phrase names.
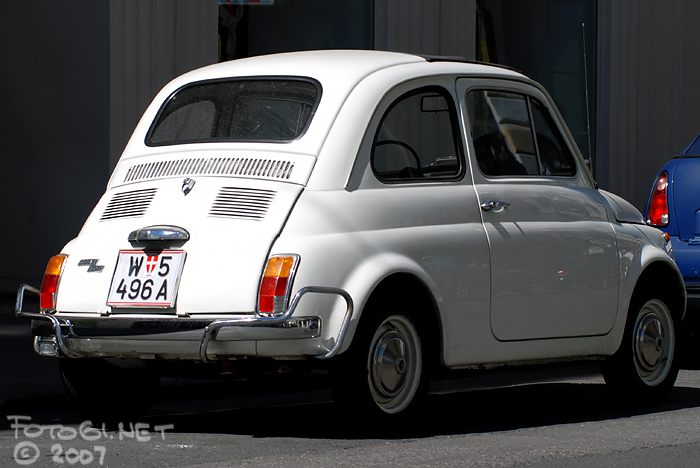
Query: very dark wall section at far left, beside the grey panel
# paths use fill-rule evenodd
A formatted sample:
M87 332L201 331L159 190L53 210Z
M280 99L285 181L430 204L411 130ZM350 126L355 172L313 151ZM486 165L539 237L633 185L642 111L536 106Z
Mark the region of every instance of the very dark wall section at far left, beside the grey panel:
M38 285L109 173L109 4L0 3L0 291Z

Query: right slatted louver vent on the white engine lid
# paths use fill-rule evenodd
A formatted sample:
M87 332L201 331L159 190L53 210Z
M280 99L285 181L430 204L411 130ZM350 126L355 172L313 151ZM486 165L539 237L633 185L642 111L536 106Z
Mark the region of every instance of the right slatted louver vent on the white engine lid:
M275 195L273 190L222 187L209 216L262 221Z

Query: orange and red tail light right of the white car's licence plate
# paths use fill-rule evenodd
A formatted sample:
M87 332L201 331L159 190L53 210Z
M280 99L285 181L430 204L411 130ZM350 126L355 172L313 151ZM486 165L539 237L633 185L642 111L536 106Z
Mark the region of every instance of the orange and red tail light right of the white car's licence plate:
M279 315L287 309L298 263L298 255L270 257L267 261L258 296L260 315Z

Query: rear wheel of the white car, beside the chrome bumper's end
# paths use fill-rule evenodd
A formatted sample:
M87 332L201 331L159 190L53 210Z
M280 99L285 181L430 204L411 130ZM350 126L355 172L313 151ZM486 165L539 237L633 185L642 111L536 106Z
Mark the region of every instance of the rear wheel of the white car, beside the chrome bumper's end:
M349 415L405 416L427 394L427 329L408 301L378 302L366 308L350 349L334 359L333 398Z

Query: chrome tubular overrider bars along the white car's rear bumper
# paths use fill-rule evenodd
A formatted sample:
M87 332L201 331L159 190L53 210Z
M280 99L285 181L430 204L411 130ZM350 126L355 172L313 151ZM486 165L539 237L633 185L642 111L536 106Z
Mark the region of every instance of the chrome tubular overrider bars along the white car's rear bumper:
M23 284L17 291L15 313L17 317L47 322L52 336L36 336L34 350L42 356L88 357L71 349L67 339L148 339L151 341L172 339L199 340L199 358L211 362L207 348L212 341L268 341L316 338L321 334L320 317L292 317L302 297L306 294L332 294L341 296L346 303L345 316L333 347L314 356L328 359L335 356L343 344L350 319L353 301L345 290L324 286L307 286L300 289L282 314L271 317L244 316L227 319L201 319L189 317L57 317L55 311L25 312L25 293L39 295L40 291ZM50 327L50 328L49 328ZM41 335L44 335L42 332Z

